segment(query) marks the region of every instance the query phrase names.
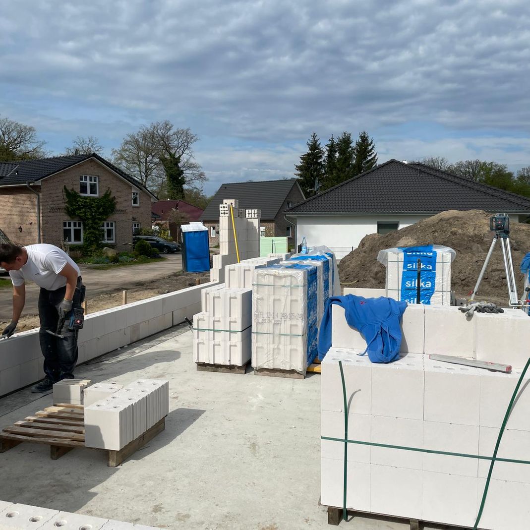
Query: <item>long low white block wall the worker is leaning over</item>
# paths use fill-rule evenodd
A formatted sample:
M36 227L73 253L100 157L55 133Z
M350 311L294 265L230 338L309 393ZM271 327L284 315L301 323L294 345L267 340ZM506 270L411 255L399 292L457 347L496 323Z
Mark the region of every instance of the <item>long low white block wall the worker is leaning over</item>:
M86 316L79 332L77 364L193 319L201 311L201 291L216 281L154 296ZM44 377L39 329L0 340L0 396Z

